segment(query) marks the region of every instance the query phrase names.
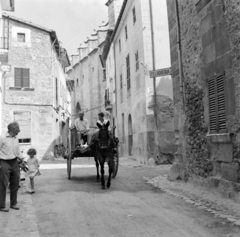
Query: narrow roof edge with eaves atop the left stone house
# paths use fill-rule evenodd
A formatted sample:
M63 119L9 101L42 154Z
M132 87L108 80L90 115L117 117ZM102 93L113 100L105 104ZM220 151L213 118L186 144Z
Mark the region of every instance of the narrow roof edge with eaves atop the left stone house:
M31 21L26 21L26 20L23 20L21 18L18 18L18 17L15 17L15 16L11 16L11 15L8 15L6 14L5 12L2 14L3 17L6 17L6 18L9 18L13 21L16 21L16 22L19 22L21 24L25 24L25 25L28 25L28 26L31 26L33 28L36 28L38 30L42 30L42 31L45 31L47 33L49 33L50 37L51 37L51 40L53 41L54 43L54 47L55 47L55 50L58 54L58 56L61 56L61 63L63 64L63 66L68 66L70 65L70 60L69 60L69 57L68 57L68 54L67 54L67 51L66 49L61 49L60 47L60 44L59 44L59 40L57 38L57 34L54 30L51 30L51 29L48 29L48 28L45 28L43 26L40 26L40 25L37 25L35 23L32 23Z

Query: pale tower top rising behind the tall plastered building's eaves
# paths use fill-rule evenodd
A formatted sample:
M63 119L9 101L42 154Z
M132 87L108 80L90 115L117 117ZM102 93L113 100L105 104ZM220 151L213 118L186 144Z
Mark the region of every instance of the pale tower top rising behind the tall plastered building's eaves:
M108 7L109 29L115 27L122 4L123 0L108 0L105 4Z

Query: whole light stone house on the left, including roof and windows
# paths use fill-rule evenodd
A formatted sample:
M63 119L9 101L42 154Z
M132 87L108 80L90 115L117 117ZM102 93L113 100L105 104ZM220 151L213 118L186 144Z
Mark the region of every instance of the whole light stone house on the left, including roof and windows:
M34 147L39 159L63 155L71 117L71 84L64 72L70 65L67 52L55 31L13 16L3 18L8 21L11 65L3 76L3 131L16 120L24 154Z

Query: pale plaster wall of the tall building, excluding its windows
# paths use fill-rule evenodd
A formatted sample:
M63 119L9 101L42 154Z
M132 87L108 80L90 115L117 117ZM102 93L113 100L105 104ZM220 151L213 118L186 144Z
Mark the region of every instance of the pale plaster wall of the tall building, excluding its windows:
M165 68L170 66L169 41L165 40L168 32L166 3L152 2L155 9L153 12L154 21L156 17L154 14L157 14L156 9L161 12L164 11L165 6L165 12L160 20L161 23L158 22L158 17L156 17L156 23L154 24L154 33L157 35L155 38L157 42L155 44L157 45L155 48L155 62L159 68ZM133 23L132 15L134 7L136 12L135 23ZM125 25L128 27L127 40L125 39ZM149 1L128 2L114 38L118 124L120 124L118 133L122 142L121 151L123 155L134 155L143 162L153 157L156 162L161 163L168 156L172 159L175 149L173 142L172 78L163 77L156 80L158 120L158 125L156 125L153 104L153 79L149 76L149 70L153 69L151 36ZM119 40L121 40L121 52L119 52ZM136 70L135 60L137 51L139 57L138 70ZM130 90L127 90L126 81L126 57L128 53L131 68ZM120 88L121 74L123 76L122 89ZM123 114L124 125L122 121ZM132 118L132 126L130 127L129 116ZM129 151L131 150L130 146L132 146L131 152ZM162 155L163 153L164 155Z

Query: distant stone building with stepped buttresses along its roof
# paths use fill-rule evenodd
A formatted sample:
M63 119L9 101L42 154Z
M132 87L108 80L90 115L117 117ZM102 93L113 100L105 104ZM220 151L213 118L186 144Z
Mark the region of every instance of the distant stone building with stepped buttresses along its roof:
M98 113L104 111L105 69L101 59L108 24L103 23L78 48L78 55L72 55L72 66L67 70L74 83L72 96L72 123L79 111L84 111L89 120L90 134L98 120Z

